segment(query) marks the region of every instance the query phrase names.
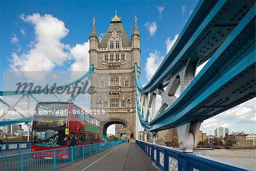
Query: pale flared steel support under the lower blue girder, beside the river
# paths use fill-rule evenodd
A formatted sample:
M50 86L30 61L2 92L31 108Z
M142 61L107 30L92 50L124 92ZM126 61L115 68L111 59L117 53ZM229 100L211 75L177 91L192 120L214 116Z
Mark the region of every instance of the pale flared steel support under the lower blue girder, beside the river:
M201 122L197 122L177 127L179 146L184 152L193 152L193 148L196 148L200 126Z

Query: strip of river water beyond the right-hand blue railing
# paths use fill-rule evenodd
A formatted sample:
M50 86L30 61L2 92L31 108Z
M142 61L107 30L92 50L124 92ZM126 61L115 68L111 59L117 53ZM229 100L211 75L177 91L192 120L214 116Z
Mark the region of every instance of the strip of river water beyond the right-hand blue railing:
M216 157L218 159L230 160L241 164L256 166L256 149L215 149L194 150L201 154Z

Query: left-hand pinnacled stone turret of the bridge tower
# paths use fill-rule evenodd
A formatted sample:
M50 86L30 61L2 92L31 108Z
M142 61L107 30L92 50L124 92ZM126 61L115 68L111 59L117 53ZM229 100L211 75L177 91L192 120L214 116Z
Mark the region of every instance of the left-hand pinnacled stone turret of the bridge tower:
M98 68L98 37L97 37L97 32L95 29L95 22L96 20L93 18L93 27L92 27L92 32L90 32L89 36L89 42L90 42L90 50L89 50L89 60L90 60L90 66L94 65L94 68Z

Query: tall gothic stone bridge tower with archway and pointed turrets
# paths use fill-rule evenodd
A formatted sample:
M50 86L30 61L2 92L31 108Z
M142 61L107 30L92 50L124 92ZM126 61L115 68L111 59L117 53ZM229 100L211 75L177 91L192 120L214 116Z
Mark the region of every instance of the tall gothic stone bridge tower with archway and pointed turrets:
M127 142L136 139L136 99L134 64L140 60L140 39L137 17L131 40L123 28L121 17L112 17L102 40L98 39L95 20L89 36L90 66L94 65L93 81L97 93L91 95L91 108L104 109L109 116L100 119L102 137L111 124L122 124L126 129ZM125 132L122 132L123 134Z

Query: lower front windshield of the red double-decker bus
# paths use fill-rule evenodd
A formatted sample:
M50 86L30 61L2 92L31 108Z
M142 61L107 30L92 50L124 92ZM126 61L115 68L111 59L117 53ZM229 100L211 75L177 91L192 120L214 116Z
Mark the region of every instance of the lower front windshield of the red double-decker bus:
M64 130L34 129L32 144L39 147L60 147L67 144Z

